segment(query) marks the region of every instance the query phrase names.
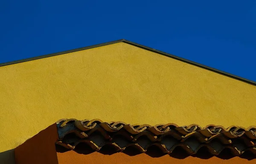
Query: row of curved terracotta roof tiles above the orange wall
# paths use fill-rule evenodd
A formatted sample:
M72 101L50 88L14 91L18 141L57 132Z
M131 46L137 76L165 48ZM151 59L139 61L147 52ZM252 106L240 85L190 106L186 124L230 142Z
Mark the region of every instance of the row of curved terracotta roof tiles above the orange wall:
M212 155L218 155L228 148L235 156L245 151L256 155L256 126L248 128L213 124L200 127L198 124L178 126L177 124L126 124L125 122L103 122L100 119L61 119L57 122L59 144L73 150L77 144L86 143L99 151L105 145L112 145L117 151L132 146L145 152L155 145L163 153L172 153L182 147L189 154L195 154L201 147L207 147ZM70 135L73 134L73 135Z

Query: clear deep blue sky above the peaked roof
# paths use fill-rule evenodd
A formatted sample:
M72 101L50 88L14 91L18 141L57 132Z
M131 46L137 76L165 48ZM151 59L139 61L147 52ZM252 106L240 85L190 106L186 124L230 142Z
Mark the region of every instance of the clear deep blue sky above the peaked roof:
M256 81L255 0L2 0L0 63L126 39Z

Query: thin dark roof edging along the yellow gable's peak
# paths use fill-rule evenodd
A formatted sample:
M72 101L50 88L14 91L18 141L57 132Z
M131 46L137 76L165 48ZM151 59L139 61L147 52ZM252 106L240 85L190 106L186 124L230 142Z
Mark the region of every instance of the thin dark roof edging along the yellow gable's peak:
M227 73L227 72L220 71L220 70L218 70L218 69L211 68L211 67L208 67L208 66L206 66L206 65L202 65L202 64L199 64L199 63L197 63L197 62L193 62L193 61L191 61L191 60L187 60L187 59L184 59L184 58L181 58L181 57L177 57L177 56L175 56L175 55L168 54L168 53L166 53L166 52L159 51L159 50L156 50L156 49L154 49L154 48L150 48L150 47L147 47L147 46L144 46L144 45L140 45L140 44L137 44L137 43L134 43L134 42L125 40L125 39L115 40L115 41L111 41L111 42L105 42L105 43L101 43L101 44L97 44L97 45L90 45L90 46L87 46L87 47L76 48L76 49L67 50L67 51L61 51L61 52L52 53L52 54L47 54L47 55L42 55L42 56L38 56L38 57L31 57L31 58L27 58L27 59L15 60L15 61L12 61L12 62L4 62L4 63L0 63L0 67L6 66L6 65L16 64L16 63L20 63L20 62L28 62L28 61L36 60L36 59L43 59L43 58L46 58L46 57L53 57L53 56L57 56L57 55L61 55L61 54L67 54L67 53L76 52L76 51L81 51L81 50L86 50L86 49L90 49L90 48L101 47L101 46L104 46L104 45L111 45L111 44L118 43L118 42L125 42L125 43L128 43L128 44L130 44L130 45L134 45L134 46L137 46L137 47L139 47L139 48L143 48L143 49L145 49L145 50L152 51L152 52L155 52L155 53L157 53L157 54L164 55L164 56L166 56L166 57L171 57L171 58L173 58L173 59L177 59L177 60L179 60L179 61L186 62L186 63L188 63L188 64L195 65L195 66L197 66L197 67L204 68L204 69L207 69L207 70L209 70L209 71L212 71L212 72L215 72L215 73L224 75L224 76L228 76L228 77L231 77L231 78L233 78L233 79L237 79L237 80L239 80L239 81L246 82L246 83L248 83L248 84L251 84L251 85L255 85L255 86L256 86L256 82L254 82L254 81L252 81L252 80L244 79L244 78L242 78L242 77L239 77L239 76L236 76L236 75L233 75L233 74L229 74L229 73Z

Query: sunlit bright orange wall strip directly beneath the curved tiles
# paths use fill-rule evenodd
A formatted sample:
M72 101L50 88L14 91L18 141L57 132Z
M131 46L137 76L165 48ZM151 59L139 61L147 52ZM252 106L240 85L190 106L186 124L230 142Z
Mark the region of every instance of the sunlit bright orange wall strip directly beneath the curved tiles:
M224 160L218 157L202 159L188 156L184 159L178 159L169 155L153 158L145 153L129 156L125 153L114 153L112 155L104 155L99 152L93 152L87 155L76 153L75 151L67 151L65 153L57 153L59 164L255 164L256 159L248 161L247 159L234 157Z

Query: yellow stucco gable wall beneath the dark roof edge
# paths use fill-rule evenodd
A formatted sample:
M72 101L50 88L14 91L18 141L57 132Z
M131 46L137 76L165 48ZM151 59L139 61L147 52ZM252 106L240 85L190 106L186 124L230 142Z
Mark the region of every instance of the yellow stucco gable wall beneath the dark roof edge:
M256 86L124 42L0 67L0 152L61 118L255 124Z

